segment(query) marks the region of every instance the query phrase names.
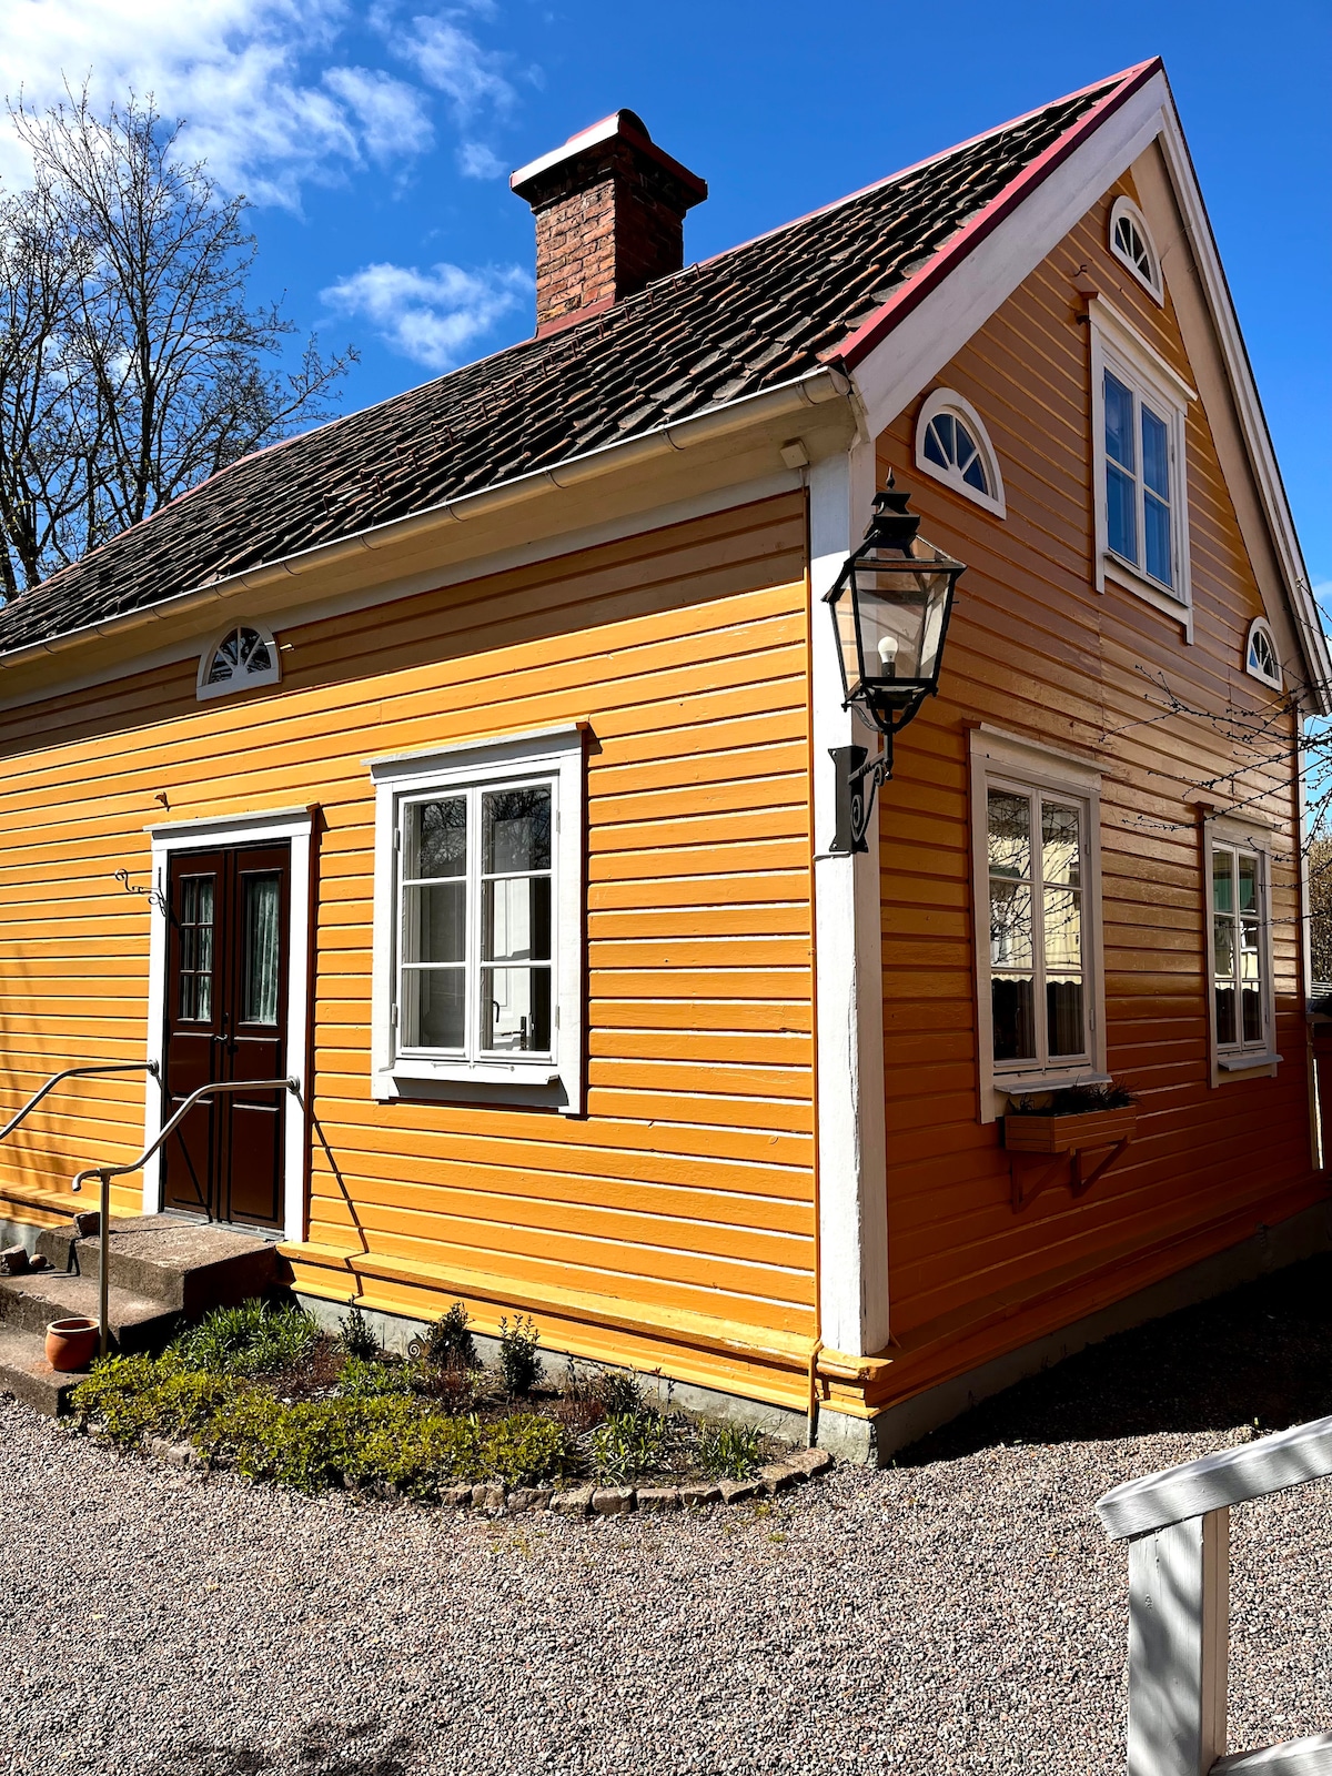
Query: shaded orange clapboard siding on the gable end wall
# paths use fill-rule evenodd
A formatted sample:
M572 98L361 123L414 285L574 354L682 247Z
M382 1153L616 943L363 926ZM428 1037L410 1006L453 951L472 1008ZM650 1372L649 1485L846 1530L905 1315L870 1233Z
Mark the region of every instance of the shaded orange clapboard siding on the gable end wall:
M884 1398L961 1373L1312 1202L1298 984L1295 792L1275 760L1240 778L1284 844L1273 858L1277 1078L1209 1083L1201 815L1231 769L1206 723L1162 716L1151 675L1222 712L1263 709L1243 673L1261 599L1202 403L1188 412L1193 645L1114 584L1092 586L1089 329L1078 266L1190 378L1160 309L1105 247L1126 176L940 373L1000 455L1007 520L915 465L913 403L879 469L922 529L968 563L938 700L897 746L881 797L890 1295L902 1357ZM1169 275L1169 268L1167 268ZM1190 378L1192 380L1192 378ZM1163 703L1160 691L1154 702ZM1110 1067L1140 1098L1138 1138L1085 1197L1019 1215L996 1124L979 1117L968 728L986 721L1099 755Z

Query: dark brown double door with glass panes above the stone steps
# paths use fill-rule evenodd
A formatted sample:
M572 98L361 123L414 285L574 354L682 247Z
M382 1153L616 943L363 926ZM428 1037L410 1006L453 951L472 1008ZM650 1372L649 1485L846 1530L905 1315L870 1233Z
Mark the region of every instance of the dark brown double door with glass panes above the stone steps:
M163 1117L201 1085L286 1078L289 845L178 852L169 902ZM163 1149L162 1206L281 1227L286 1096L201 1099Z

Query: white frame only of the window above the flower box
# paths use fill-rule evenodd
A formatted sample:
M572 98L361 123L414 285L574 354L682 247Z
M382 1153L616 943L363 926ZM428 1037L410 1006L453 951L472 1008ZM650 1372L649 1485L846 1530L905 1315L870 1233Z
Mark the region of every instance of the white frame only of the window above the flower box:
M989 968L989 844L991 789L1067 797L1083 812L1085 884L1082 892L1083 993L1090 1051L1073 1062L995 1060ZM1058 1090L1064 1085L1106 1085L1105 943L1101 934L1101 773L1074 753L1025 741L980 725L971 730L971 900L975 908L977 1060L980 1121L1002 1117L1009 1094Z

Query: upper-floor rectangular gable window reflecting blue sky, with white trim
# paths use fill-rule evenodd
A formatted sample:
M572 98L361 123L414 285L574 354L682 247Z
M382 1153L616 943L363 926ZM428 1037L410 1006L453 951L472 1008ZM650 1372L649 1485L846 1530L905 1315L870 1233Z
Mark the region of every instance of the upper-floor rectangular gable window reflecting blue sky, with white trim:
M1101 298L1090 321L1098 590L1114 579L1188 625L1185 401L1193 391Z

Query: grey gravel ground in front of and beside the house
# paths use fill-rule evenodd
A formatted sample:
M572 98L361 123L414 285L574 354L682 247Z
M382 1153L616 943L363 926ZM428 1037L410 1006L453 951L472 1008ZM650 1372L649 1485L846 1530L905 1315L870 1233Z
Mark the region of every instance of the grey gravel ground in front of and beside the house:
M1332 1261L1126 1334L895 1469L567 1524L185 1478L0 1401L0 1767L1122 1771L1108 1487L1332 1410ZM1231 1744L1332 1726L1332 1485L1233 1513Z

